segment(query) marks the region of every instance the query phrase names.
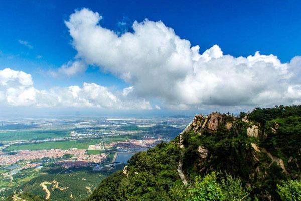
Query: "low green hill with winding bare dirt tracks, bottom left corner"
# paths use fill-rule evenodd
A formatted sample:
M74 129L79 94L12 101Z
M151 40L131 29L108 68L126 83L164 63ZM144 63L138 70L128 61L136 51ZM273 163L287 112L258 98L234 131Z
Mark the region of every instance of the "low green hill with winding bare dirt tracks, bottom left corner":
M109 174L111 172L92 171L89 167L65 169L49 164L41 169L21 170L13 175L12 181L9 178L3 178L0 180L0 189L6 190L1 192L1 196L12 198L13 192L22 190L22 194L18 194L20 198L35 201L44 200L45 191L43 191L40 184L44 181L52 182L56 180L59 187L67 189L62 191L59 189L51 190L53 184L47 185L51 192L51 200L73 200L70 198L71 194L73 198L81 200L91 194L99 182ZM11 200L9 198L7 200Z

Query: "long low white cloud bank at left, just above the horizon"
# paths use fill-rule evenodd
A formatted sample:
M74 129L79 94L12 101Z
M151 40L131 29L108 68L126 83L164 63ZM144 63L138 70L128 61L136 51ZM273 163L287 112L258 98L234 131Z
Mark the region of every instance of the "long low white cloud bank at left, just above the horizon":
M145 99L128 99L95 83L37 90L30 74L10 68L0 70L0 101L12 106L152 109Z

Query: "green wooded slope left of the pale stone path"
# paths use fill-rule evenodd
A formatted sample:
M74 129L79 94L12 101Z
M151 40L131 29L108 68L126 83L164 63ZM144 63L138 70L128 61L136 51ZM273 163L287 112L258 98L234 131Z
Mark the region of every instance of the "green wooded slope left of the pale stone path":
M117 172L104 179L89 200L171 200L182 183L176 170L179 154L176 141L137 153L129 160L128 177Z

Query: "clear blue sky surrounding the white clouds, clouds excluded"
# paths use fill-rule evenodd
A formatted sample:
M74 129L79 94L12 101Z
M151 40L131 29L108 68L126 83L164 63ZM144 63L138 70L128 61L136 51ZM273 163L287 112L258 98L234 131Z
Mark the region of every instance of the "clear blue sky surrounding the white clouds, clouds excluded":
M135 20L162 21L181 39L189 40L191 46L199 45L200 54L217 44L223 55L234 57L247 57L260 51L261 55L273 54L281 63L289 63L301 55L299 1L0 1L0 4L0 70L10 68L30 74L37 90L82 86L83 82L120 91L135 86L135 81L126 81L119 71L103 67L102 61L89 63L84 57L80 60L89 66L85 72L63 78L49 75L49 71L77 59L80 50L72 46L76 39L64 21L69 20L75 9L82 8L98 12L102 16L99 25L115 33L133 32ZM173 97L147 96L139 91L136 96L149 100L153 107L174 104L170 101ZM204 104L211 105L203 99L179 100L176 105L199 109ZM212 105L223 108L218 99ZM295 103L294 100L285 103Z

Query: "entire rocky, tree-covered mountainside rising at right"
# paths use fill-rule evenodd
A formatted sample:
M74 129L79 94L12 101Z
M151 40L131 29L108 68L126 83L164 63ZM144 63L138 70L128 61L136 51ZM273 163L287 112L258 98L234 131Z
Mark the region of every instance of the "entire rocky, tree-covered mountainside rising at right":
M301 200L300 147L301 106L196 115L87 200Z

